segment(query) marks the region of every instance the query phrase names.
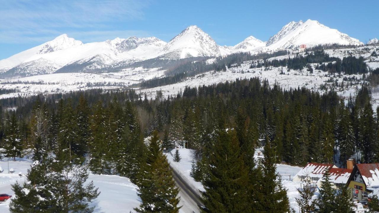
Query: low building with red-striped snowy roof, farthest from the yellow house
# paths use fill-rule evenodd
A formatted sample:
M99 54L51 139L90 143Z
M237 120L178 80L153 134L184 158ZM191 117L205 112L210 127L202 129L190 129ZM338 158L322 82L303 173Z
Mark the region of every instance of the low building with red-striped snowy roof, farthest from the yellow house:
M303 181L307 175L309 175L312 182L316 183L321 179L325 171L330 168L337 168L334 164L323 164L323 163L308 163L304 168L302 168L298 174L293 177L293 181Z

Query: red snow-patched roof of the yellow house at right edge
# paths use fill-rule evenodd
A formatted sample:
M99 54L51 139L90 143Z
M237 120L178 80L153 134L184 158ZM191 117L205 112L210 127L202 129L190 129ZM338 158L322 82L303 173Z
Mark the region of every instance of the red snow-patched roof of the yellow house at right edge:
M379 163L361 163L357 168L368 188L379 186Z

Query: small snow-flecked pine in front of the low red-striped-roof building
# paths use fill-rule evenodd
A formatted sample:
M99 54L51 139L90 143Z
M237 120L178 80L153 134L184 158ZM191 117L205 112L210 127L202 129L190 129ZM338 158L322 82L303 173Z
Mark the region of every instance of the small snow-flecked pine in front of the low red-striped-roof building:
M312 187L311 183L312 180L309 174L306 174L303 187L298 188L299 198L295 198L295 200L299 205L301 213L310 213L315 208L312 203L312 197L315 195L316 188Z

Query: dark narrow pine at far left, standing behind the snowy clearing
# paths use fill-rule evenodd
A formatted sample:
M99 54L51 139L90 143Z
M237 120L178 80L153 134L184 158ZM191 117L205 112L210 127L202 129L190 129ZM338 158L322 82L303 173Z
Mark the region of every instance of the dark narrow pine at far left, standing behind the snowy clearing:
M16 157L21 157L22 144L17 117L14 111L6 122L4 144L5 157L13 158L14 161Z

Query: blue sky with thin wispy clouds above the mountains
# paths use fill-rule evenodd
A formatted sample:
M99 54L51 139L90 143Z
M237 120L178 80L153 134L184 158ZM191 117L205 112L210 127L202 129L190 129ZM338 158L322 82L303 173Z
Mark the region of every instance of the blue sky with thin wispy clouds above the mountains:
M379 38L378 0L0 0L0 59L60 34L86 42L129 36L169 41L197 25L219 45L262 41L290 21L318 20L362 42Z

